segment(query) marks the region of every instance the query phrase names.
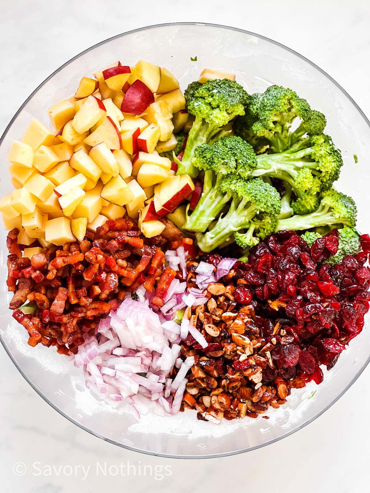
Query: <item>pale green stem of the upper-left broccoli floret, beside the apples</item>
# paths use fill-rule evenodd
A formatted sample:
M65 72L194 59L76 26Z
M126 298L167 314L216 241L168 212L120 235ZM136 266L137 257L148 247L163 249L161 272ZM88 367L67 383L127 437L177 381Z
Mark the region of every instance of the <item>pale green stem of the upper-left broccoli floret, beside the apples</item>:
M217 125L208 124L200 116L195 117L186 141L183 159L179 161L179 159L175 158L178 165L177 175L189 175L191 178L196 178L199 170L191 162L194 149L198 145L207 143L209 139L212 139L219 128Z

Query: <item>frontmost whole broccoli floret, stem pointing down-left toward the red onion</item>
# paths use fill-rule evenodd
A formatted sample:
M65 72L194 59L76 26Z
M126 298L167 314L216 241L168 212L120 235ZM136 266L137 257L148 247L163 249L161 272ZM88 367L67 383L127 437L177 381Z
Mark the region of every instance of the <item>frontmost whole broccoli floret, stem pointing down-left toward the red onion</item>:
M246 181L234 174L223 178L220 188L229 190L233 199L229 210L210 231L197 233L201 250L208 252L217 248L239 230L244 230L242 238L237 235L243 247L255 245L257 238L263 239L274 230L280 212L280 195L273 186L260 179Z

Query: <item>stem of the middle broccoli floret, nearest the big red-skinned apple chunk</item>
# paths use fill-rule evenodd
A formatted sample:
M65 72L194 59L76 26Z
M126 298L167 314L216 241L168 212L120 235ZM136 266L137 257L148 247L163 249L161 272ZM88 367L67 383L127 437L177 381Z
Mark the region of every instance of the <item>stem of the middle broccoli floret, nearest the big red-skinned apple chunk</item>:
M188 231L205 231L231 199L231 193L221 192L221 174L216 176L212 170L204 173L203 192L194 211L191 212L183 226Z

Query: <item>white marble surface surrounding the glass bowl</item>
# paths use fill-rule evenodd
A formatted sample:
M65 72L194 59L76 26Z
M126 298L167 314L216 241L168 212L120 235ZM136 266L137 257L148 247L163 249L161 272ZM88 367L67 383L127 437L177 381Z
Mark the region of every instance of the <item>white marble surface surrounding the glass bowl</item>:
M235 5L236 2L229 5ZM3 0L0 20L0 132L52 71L112 35L163 22L222 23L265 35L295 49L330 73L370 115L370 4L365 0L225 2L162 0L159 4L96 0ZM226 2L227 4L227 2ZM256 5L254 7L253 5ZM3 166L5 163L3 163ZM367 420L370 368L314 423L293 436L247 455L206 460L169 460L115 447L48 406L17 372L0 347L0 490L6 493L252 491L352 493L369 491ZM358 396L361 395L361 399ZM135 465L122 476L116 466ZM13 465L27 471L17 476ZM32 466L37 462L35 467ZM96 472L110 465L111 474ZM70 465L79 465L71 475ZM138 475L151 465L153 475ZM155 466L167 465L154 478ZM49 471L47 466L55 466ZM85 479L82 471L90 466ZM63 469L64 467L64 469ZM22 465L16 469L22 473ZM159 471L159 469L157 469Z

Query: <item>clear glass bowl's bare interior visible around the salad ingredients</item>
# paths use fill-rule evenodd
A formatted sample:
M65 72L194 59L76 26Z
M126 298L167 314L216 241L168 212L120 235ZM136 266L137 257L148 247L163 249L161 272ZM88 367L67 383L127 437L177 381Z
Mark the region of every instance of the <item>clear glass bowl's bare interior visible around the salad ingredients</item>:
M191 61L190 57L197 57ZM327 132L342 150L344 167L338 187L358 205L358 228L370 231L368 142L370 124L361 109L325 72L275 41L240 29L197 23L150 26L103 41L51 74L27 99L8 125L0 142L1 162L13 139L20 140L33 117L49 125L47 108L74 94L82 76L115 60L134 65L138 59L164 66L180 78L182 89L205 67L236 73L250 92L271 84L292 87L310 105L323 111ZM353 154L358 156L355 165ZM356 173L353 173L353 168ZM359 181L358 176L362 176ZM7 173L1 195L11 190ZM1 233L1 282L6 293L6 232ZM15 366L46 402L81 428L130 450L164 457L206 458L253 450L284 438L328 409L358 378L369 362L369 320L362 333L342 353L334 368L325 371L320 386L310 383L293 390L280 409L270 409L269 420L198 421L195 412L175 417L131 415L97 401L84 386L82 372L68 357L53 349L27 345L24 328L10 316L10 295L1 298L0 339Z

